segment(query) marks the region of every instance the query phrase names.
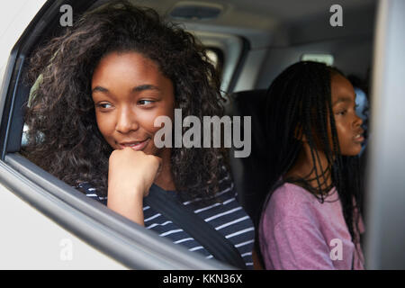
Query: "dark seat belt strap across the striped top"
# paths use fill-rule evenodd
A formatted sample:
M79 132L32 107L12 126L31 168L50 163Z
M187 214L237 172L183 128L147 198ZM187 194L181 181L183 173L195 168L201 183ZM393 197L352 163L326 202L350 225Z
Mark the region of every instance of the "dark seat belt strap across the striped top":
M172 220L180 228L198 241L213 257L240 269L246 264L238 249L219 231L187 209L183 203L165 190L152 184L144 201L154 210Z

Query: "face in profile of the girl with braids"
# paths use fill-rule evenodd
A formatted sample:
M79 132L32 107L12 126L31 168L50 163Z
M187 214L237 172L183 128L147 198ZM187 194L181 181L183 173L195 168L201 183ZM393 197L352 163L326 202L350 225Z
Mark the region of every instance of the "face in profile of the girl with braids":
M356 156L360 153L364 130L362 119L356 115L356 93L344 76L334 74L331 77L332 111L335 116L340 153L344 156Z

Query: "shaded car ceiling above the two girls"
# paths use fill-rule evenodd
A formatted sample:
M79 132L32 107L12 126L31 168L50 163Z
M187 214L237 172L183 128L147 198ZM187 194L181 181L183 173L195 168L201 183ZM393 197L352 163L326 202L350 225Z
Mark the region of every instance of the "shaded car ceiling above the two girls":
M103 1L106 2L106 1ZM312 23L311 31L317 26L329 23L329 8L337 4L336 0L218 0L218 1L187 1L187 0L130 0L133 4L145 5L154 8L159 14L165 15L169 20L184 23L190 31L204 30L237 34L250 41L252 47L268 47L270 45L284 46L294 43L291 40L292 31L302 29L302 23ZM347 26L341 37L348 34L370 33L369 25L358 26L359 19L374 15L373 9L377 0L339 0L338 4L343 7L346 19L351 18L353 26ZM219 17L211 20L175 20L168 14L177 4L212 4L220 5L222 12ZM351 15L350 17L348 15ZM360 18L359 18L360 15ZM320 18L321 21L320 22ZM316 23L319 21L320 23ZM361 20L360 20L361 21ZM325 26L325 25L324 25ZM364 31L362 31L362 29ZM367 30L367 31L365 31ZM316 31L315 31L316 32ZM336 31L327 31L329 35L321 37L333 38ZM310 37L307 41L312 41ZM300 41L306 41L300 37Z

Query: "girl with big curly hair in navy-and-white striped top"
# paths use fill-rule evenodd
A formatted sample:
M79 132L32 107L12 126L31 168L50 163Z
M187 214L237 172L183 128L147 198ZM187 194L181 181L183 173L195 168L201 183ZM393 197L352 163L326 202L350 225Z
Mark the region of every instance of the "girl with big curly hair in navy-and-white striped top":
M113 211L205 257L210 253L144 204L152 184L220 231L252 267L254 228L236 201L224 148L157 148L158 116L223 114L202 45L127 2L83 15L31 58L23 155ZM183 128L184 132L184 128Z

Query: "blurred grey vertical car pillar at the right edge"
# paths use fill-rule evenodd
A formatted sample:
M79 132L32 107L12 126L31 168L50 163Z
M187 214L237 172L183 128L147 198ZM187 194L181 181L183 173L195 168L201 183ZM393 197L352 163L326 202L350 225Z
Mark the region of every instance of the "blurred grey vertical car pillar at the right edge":
M368 269L404 269L405 2L379 1L374 37L365 258Z

